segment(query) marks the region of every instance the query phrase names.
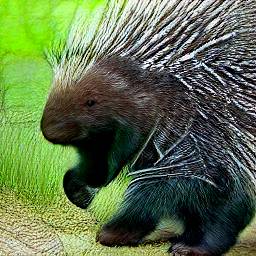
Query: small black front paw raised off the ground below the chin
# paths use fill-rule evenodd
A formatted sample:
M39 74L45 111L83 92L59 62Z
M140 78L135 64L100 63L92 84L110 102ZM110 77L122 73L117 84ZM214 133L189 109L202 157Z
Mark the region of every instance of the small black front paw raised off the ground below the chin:
M97 192L82 182L74 170L68 170L64 175L63 188L67 198L82 209L88 207Z

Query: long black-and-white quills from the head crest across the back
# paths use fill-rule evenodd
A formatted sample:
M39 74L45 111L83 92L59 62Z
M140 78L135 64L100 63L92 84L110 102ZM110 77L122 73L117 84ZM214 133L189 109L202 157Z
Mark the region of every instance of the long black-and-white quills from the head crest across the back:
M255 0L108 1L93 28L82 16L51 56L55 84L112 55L168 71L196 108L188 132L202 157L256 184Z

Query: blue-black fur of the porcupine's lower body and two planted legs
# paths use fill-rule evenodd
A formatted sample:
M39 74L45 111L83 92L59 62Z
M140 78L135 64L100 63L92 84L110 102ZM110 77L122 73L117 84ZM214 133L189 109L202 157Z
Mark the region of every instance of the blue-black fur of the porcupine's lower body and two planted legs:
M224 170L218 171L225 175ZM216 177L222 191L183 178L130 187L123 206L103 226L98 240L108 246L136 244L154 230L162 216L178 216L185 231L170 238L174 244L170 251L175 255L222 255L249 224L255 206L251 195L238 184L227 185L232 179L220 179ZM187 250L190 254L185 253Z

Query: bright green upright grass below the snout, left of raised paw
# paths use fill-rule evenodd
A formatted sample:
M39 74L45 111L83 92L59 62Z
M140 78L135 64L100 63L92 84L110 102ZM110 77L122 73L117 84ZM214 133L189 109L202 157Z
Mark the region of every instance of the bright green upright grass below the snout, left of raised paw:
M61 177L74 162L74 153L47 145L37 129L24 124L1 127L1 136L1 186L34 203L55 201L62 193Z

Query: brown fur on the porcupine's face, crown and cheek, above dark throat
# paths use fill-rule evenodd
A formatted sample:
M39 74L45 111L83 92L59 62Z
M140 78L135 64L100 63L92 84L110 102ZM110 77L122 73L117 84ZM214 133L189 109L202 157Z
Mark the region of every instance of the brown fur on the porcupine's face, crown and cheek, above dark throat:
M178 85L173 91L168 84L164 88L162 76L166 74L152 77L136 65L112 57L92 66L78 83L54 88L42 118L44 136L54 143L70 144L86 137L88 130L104 129L115 121L133 125L146 135L156 116L164 118L167 111L170 115L170 109L175 110L173 119L183 119L185 124L187 118L184 115L192 115L193 110L190 108L189 113L184 109L179 111L178 107L186 106L184 103L186 108L190 105L183 90ZM168 98L165 97L167 93ZM96 105L88 108L88 100L94 100ZM81 124L85 126L81 127Z

